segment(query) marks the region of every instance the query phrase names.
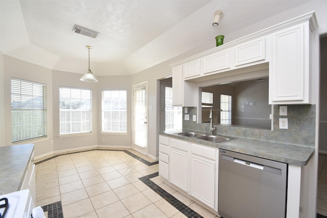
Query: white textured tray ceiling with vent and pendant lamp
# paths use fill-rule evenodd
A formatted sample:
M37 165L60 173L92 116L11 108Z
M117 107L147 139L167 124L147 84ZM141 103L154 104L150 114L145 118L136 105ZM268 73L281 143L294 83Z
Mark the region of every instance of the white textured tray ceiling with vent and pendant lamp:
M1 52L50 69L131 75L307 3L205 0L1 0ZM223 9L217 28L214 12ZM90 38L79 25L99 32ZM214 45L213 45L214 47Z

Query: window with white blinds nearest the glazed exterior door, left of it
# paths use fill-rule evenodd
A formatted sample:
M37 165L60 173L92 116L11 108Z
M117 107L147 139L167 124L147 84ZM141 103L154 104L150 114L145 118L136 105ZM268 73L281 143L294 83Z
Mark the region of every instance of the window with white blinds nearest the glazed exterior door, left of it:
M102 91L102 132L127 133L127 91Z

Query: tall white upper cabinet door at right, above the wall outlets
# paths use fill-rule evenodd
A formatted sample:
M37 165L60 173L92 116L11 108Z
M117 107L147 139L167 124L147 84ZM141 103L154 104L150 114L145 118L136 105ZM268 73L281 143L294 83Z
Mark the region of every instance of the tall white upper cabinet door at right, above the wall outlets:
M272 34L270 104L309 103L309 41L304 24ZM309 33L309 27L306 32Z

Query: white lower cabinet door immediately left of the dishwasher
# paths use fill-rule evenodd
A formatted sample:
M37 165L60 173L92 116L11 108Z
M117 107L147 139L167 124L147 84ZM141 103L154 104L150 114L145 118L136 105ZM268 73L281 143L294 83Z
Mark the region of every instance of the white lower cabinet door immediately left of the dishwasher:
M215 161L191 157L191 195L215 209Z

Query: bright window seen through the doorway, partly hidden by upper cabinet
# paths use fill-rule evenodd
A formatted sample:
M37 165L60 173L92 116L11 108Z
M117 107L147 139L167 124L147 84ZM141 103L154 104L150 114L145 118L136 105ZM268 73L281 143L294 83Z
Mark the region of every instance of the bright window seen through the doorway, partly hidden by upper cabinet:
M182 107L173 106L173 88L165 87L165 130L182 129Z

